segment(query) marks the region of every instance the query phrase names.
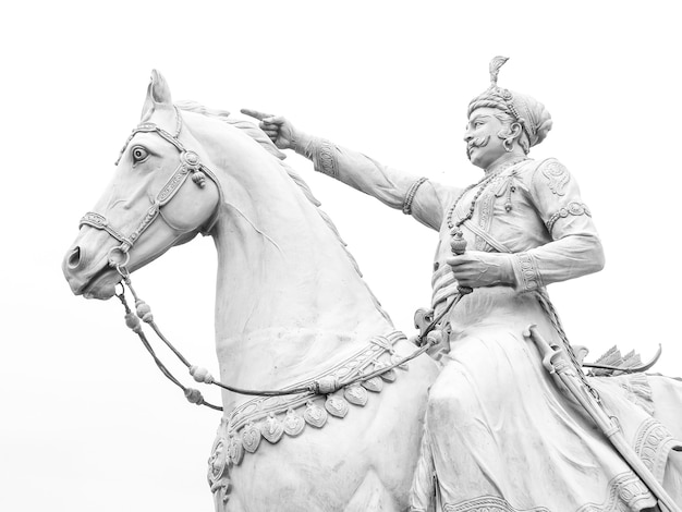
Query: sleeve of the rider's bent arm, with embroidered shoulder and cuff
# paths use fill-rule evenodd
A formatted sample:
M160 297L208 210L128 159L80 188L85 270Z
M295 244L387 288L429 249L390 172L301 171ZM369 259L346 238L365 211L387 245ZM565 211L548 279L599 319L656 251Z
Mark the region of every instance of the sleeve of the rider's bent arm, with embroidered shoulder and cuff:
M569 170L550 158L540 162L525 181L549 242L513 255L516 288L533 291L601 270L601 242Z

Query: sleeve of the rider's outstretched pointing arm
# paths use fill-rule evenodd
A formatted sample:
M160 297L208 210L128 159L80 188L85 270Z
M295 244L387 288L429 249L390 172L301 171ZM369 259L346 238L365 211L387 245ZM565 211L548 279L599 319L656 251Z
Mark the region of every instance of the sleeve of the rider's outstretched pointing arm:
M313 160L316 171L412 215L434 230L440 229L451 187L383 166L324 138L302 136L294 149Z

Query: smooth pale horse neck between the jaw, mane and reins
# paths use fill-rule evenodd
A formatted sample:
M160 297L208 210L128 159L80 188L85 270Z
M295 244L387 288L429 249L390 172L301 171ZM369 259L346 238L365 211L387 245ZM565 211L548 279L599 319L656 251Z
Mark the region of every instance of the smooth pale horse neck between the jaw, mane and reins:
M259 147L232 163L214 237L221 378L276 387L392 330L338 235ZM231 399L228 399L231 400Z

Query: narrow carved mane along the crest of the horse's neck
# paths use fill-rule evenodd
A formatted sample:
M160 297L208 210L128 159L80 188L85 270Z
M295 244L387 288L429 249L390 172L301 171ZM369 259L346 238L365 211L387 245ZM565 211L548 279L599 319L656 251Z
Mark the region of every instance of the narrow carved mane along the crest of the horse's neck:
M243 120L243 119L232 118L230 115L230 112L228 112L227 110L208 108L197 101L192 101L192 100L180 100L175 102L175 106L180 110L200 113L203 115L217 119L219 121L222 121L224 123L231 124L232 126L240 129L246 135L248 135L258 144L260 144L260 147L263 147L267 153L269 153L270 155L272 155L275 158L278 159L280 166L287 171L287 174L289 175L289 178L291 178L291 180L296 185L299 185L299 187L303 192L303 195L313 204L313 206L315 206L319 216L322 218L327 227L331 230L331 232L334 234L334 236L341 244L343 252L345 253L348 258L351 260L351 264L353 265L353 268L357 272L357 276L361 278L361 280L365 284L365 288L369 292L369 296L372 297L372 301L374 302L376 308L383 316L383 318L386 318L388 321L392 324L388 313L381 307L381 303L379 303L379 300L376 297L376 295L373 293L373 291L369 289L369 287L363 279L363 272L360 270L360 266L357 265L355 257L353 257L351 252L348 249L348 244L341 237L339 230L332 222L331 218L320 208L321 203L313 195L313 191L310 190L308 184L303 180L303 178L301 178L301 174L299 174L291 166L284 162L284 158L287 158L287 155L284 155L282 151L279 150L279 148L275 145L275 143L272 143L270 137L268 137L266 133L263 130L260 130L260 127L258 127L258 125L249 121Z

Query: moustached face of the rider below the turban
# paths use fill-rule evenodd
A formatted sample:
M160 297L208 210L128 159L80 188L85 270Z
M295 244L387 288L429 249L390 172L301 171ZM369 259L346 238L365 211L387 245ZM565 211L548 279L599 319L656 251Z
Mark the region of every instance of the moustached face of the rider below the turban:
M482 169L488 169L507 153L503 141L498 136L506 129L504 123L496 118L499 112L492 108L478 108L472 112L466 124L466 156Z

